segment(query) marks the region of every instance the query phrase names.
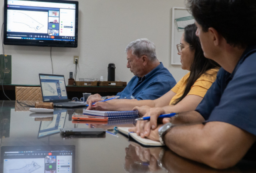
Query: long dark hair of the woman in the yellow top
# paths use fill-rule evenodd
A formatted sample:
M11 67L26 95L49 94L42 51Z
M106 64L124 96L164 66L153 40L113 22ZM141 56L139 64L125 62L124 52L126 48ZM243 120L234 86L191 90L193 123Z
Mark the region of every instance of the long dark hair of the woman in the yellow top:
M196 36L196 25L191 24L185 27L184 30L184 40L190 45L190 51L194 50L194 62L190 66L190 76L188 77L188 82L184 89L184 93L181 97L176 99L172 105L176 105L180 102L186 95L188 95L191 87L194 85L196 80L202 75L207 75L212 77L215 74L207 74L207 71L212 68L220 68L220 65L213 60L204 57L204 52L202 50L200 40Z

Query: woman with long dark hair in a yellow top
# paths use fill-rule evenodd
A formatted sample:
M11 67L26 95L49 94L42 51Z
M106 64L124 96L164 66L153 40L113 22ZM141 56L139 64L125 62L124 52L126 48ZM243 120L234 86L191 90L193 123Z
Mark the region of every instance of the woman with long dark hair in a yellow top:
M177 45L182 64L181 68L190 72L165 95L155 100L118 101L112 99L110 101L97 102L91 106L91 103L102 100L94 99L89 102L88 109L138 110L140 115L151 116L152 129L156 128L157 117L161 114L194 111L202 101L206 91L216 80L216 75L220 68L216 62L204 57L200 40L196 36L196 30L195 24L186 26L180 44ZM135 131L141 137L148 136L150 123L146 126L145 123L145 121L137 122L136 128L134 127L132 131Z

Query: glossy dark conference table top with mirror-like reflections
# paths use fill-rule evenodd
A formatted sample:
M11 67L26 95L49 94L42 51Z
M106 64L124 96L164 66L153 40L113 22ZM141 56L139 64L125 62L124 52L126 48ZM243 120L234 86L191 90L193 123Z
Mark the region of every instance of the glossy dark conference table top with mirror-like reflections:
M256 172L254 161L240 161L235 167L217 170L180 157L167 147L144 147L114 130L115 126L134 126L134 119L83 123L71 118L82 115L85 107L54 108L53 116L44 117L16 101L0 101L0 107L1 173ZM63 137L60 128L103 128L106 134Z

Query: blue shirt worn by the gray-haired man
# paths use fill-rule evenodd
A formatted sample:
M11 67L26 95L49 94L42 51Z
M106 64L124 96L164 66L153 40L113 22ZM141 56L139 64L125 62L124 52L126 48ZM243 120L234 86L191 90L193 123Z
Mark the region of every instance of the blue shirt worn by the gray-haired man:
M154 100L170 91L175 85L176 81L172 74L160 62L142 78L134 76L124 90L116 96L120 96L119 99Z

